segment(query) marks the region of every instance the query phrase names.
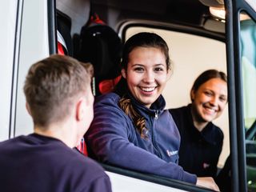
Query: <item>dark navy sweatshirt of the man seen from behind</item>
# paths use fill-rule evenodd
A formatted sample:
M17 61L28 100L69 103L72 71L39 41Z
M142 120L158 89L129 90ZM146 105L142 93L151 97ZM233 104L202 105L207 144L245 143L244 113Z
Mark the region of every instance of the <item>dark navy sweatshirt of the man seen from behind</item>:
M57 139L42 138L41 140L36 140L35 137L32 138L34 140L25 136L24 138L14 138L5 142L6 145L2 146L3 150L1 152L8 155L0 157L1 166L6 167L6 169L1 170L2 173L14 174L16 173L16 167L26 170L26 166L30 165L30 169L34 170L34 172L32 174L27 172L26 178L42 178L46 175L43 178L43 183L45 183L45 187L42 188L43 191L49 191L47 190L49 183L54 185L56 189L59 189L58 187L62 189L62 187L72 186L70 191L96 191L90 190L90 187L101 185L102 189L104 189L105 186L110 186L110 179L102 166L94 162L94 160L87 158L76 150L70 149ZM16 160L15 163L6 161L6 157L9 157L9 159L12 157ZM19 161L17 161L18 158L20 158ZM19 178L18 175L15 174L15 177L11 179ZM26 178L20 179L21 181L26 181Z

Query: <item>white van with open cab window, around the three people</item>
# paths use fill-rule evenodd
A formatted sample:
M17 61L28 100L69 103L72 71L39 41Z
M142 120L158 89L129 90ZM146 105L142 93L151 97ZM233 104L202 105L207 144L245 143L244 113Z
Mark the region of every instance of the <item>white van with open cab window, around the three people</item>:
M215 122L225 134L218 167L222 169L230 156L232 191L256 190L254 0L9 0L0 2L0 14L0 141L33 130L22 91L30 65L57 53L58 42L66 54L80 58L82 26L97 14L98 22L110 26L122 42L132 34L154 31L169 44L174 74L163 93L167 108L190 102L191 84L202 71L215 68L226 72L228 107ZM96 94L97 84L96 80ZM208 191L102 166L114 191Z

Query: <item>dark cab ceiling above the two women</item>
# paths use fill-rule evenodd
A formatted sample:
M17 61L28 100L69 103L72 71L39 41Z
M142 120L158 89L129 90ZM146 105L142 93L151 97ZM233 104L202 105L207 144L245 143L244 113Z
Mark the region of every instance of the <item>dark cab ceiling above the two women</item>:
M114 24L108 22L110 26L127 20L140 19L192 26L224 34L225 24L213 18L209 10L209 6L223 7L218 2L216 0L91 0L91 10L104 14L101 17L106 21L116 21Z

